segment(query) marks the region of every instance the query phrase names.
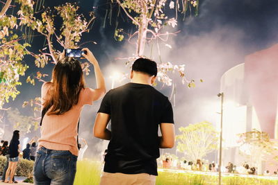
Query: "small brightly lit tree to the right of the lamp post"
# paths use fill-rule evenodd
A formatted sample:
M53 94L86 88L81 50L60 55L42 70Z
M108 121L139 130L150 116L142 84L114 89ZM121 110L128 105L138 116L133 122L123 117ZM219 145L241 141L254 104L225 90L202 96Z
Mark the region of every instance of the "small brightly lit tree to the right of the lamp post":
M270 141L267 132L253 129L250 132L238 134L240 144L240 155L249 160L250 165L258 167L261 161L267 159L275 152L275 143Z

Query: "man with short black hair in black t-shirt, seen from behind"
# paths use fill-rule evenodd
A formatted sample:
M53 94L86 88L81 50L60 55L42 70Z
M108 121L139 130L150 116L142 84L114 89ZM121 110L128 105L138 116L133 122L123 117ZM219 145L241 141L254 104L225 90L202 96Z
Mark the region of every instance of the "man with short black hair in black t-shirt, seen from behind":
M131 82L112 89L101 102L93 132L110 140L101 185L155 184L159 148L174 146L172 105L151 86L156 74L156 62L139 58ZM106 128L110 119L111 131Z

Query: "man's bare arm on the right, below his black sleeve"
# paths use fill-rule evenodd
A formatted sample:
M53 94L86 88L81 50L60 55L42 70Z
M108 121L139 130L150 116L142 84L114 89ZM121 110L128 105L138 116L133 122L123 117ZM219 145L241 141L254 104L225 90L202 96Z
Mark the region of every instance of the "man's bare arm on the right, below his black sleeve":
M161 123L161 136L159 136L159 148L174 147L174 124Z

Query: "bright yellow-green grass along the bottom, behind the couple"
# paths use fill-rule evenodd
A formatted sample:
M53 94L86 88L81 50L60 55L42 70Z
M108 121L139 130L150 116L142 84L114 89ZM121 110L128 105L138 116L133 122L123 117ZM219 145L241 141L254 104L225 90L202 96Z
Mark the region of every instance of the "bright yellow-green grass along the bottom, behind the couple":
M78 161L74 185L99 184L102 171L100 161ZM156 185L218 185L218 175L204 175L190 172L158 172ZM278 180L253 177L222 177L223 185L278 185Z

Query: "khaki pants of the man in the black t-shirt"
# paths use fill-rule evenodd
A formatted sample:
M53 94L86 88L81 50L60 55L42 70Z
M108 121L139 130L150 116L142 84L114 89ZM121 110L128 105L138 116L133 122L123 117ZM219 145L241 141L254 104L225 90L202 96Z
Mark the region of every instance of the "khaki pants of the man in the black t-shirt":
M155 185L156 176L147 173L102 173L99 185Z

